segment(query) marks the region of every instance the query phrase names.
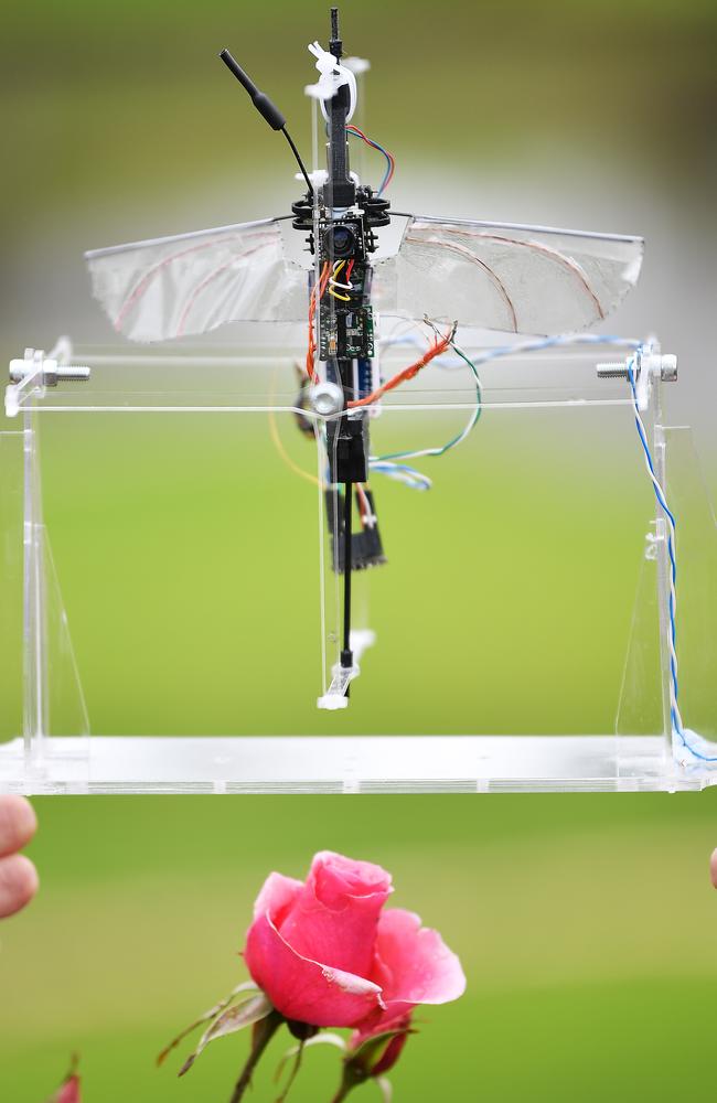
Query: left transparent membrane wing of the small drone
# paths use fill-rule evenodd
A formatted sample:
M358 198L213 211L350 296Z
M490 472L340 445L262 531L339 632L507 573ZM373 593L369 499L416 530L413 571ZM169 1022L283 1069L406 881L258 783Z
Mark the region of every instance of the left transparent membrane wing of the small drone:
M132 341L206 333L224 322L304 320L308 274L285 255L283 221L86 253L93 296Z

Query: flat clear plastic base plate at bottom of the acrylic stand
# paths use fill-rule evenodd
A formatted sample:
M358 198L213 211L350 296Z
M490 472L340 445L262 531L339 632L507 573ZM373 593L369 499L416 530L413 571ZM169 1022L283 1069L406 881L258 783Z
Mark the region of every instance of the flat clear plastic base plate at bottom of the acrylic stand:
M0 747L0 791L632 793L717 781L664 747L657 736L65 737L33 762L21 740Z

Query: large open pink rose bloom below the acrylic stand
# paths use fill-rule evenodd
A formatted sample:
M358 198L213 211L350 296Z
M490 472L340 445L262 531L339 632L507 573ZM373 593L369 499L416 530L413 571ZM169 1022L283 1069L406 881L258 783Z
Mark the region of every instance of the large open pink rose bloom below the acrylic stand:
M465 988L456 954L418 915L383 907L390 876L324 850L306 884L270 874L254 909L245 959L287 1019L354 1027L353 1041L402 1029L417 1004L445 1004ZM405 1029L405 1027L403 1027ZM397 1056L397 1054L396 1054Z

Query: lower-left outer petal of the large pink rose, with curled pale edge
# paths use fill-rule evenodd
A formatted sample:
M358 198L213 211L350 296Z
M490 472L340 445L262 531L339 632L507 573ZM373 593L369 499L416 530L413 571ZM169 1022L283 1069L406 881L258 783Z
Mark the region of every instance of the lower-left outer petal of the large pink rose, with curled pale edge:
M247 934L247 967L281 1015L317 1027L351 1027L382 1006L377 984L297 953L268 914Z

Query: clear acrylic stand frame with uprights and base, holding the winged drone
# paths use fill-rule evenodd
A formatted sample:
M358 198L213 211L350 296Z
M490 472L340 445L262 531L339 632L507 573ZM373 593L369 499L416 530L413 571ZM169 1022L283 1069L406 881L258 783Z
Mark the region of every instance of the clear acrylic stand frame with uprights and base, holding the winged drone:
M483 365L480 424L415 461L430 492L374 478L388 564L354 585L363 671L349 708L317 709L345 688L339 490L288 347L300 336L242 356L65 346L87 383L46 386L35 357L9 388L0 790L710 784L715 518L663 385L643 416L678 516L681 703L702 757L673 740L665 521L600 347ZM385 373L406 355L386 349ZM431 365L382 401L372 447L430 448L475 410L467 373Z

